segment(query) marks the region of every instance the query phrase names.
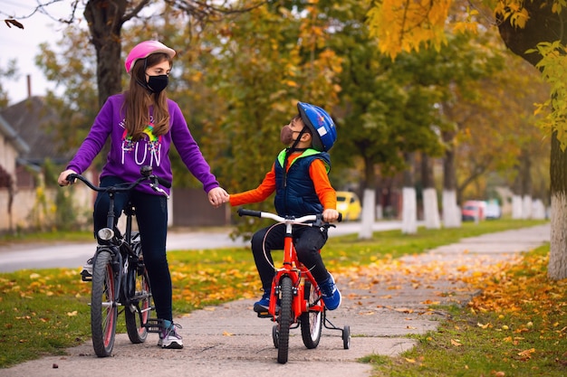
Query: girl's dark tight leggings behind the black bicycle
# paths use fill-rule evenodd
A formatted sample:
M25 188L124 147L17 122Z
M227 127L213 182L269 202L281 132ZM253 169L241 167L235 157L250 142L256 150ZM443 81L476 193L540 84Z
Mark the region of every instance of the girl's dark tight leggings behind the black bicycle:
M107 176L101 179L101 186L108 187L123 183L119 177ZM158 318L172 320L172 288L166 257L166 238L168 235L168 203L163 195L152 195L131 191L117 193L114 202L115 222L120 213L131 201L136 208L136 220L144 254L144 263L148 269L151 293L156 305ZM106 227L106 217L109 210L108 193L99 193L94 203L94 234ZM97 237L98 238L98 237Z

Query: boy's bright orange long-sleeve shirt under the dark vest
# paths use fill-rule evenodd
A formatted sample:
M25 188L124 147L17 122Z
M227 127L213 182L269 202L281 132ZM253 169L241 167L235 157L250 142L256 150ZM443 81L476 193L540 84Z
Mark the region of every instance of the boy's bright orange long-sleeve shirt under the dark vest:
M287 164L287 170L292 165L295 158L301 156L301 152L293 153L289 157L289 163ZM331 182L329 181L329 175L327 175L327 169L324 163L320 159L315 159L309 165L309 176L313 181L315 187L315 192L319 196L319 202L322 203L323 209L325 210L336 210L337 209L337 193L332 188ZM272 170L270 170L264 176L262 184L252 190L245 191L244 193L233 193L230 195L230 205L243 205L249 203L260 203L264 202L272 193L275 191L275 163L272 165Z

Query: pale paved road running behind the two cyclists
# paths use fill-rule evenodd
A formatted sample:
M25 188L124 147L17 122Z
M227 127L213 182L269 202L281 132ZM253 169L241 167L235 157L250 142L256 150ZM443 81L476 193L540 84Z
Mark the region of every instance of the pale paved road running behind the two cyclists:
M374 231L400 229L400 221L380 221L373 226ZM331 237L356 233L359 222L341 222L329 231ZM227 231L168 232L168 250L216 249L233 246L247 246L242 239L232 240ZM18 269L81 268L94 253L94 241L86 243L65 243L45 245L0 246L0 272Z

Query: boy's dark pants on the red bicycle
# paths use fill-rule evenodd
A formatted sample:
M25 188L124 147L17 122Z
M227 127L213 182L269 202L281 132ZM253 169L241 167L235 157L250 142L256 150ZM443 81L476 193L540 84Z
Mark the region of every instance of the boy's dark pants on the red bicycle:
M274 279L274 259L272 250L283 250L283 238L285 236L285 224L275 224L256 231L252 236L252 254L262 280L264 292L272 289ZM327 242L327 230L319 227L307 227L301 225L293 226L293 242L297 251L297 259L310 269L318 284L329 277L329 272L321 258L320 250ZM279 268L281 261L275 264Z

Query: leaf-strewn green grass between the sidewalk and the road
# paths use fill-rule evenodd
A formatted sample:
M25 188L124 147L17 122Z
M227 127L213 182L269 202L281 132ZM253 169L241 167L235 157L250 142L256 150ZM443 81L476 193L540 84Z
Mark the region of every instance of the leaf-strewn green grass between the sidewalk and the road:
M420 253L439 245L456 242L464 237L539 223L543 221L483 221L479 224L464 223L459 229L430 231L420 228L415 235L403 235L400 231L376 232L373 240L358 240L356 235L333 237L323 250L323 259L331 270L363 266L384 256L398 258L401 255ZM82 239L80 235L77 237L78 240L85 240L85 236L90 239L90 235L85 233L82 234ZM24 238L22 242L40 240L61 240L61 235L35 235ZM14 242L14 239L9 241ZM278 258L279 256L274 254L274 259ZM204 306L217 305L239 297L256 297L259 294L259 278L249 250L230 248L174 251L168 252L168 259L174 285L176 316ZM81 281L79 270L76 269L36 269L0 273L0 367L9 367L42 355L62 354L65 348L81 344L88 339L89 297L90 284ZM463 316L465 323L474 321L476 324L476 319L466 316L466 310L461 309L462 314L459 314L457 309L454 310L455 320L460 320L460 316ZM119 321L120 332L125 331L122 323L123 321ZM443 344L443 336L450 333L450 326L447 325L447 329L440 331L435 337L429 335L434 341L429 341L427 337L420 339L419 347L428 352L437 349L437 344ZM461 326L461 332L466 329L466 334L474 335L474 325ZM494 342L494 335L483 336L481 333L474 336L477 337L475 344L484 343L490 346ZM548 346L552 348L552 344ZM465 356L466 354L463 355ZM441 362L441 355L437 359L440 363L445 363L446 368L451 367L448 370L454 369L454 360L446 359L447 361ZM495 353L494 359L498 361L501 358ZM381 364L393 373L399 365L407 368L409 364L409 369L391 375L413 375L408 371L418 367L418 363L399 363L396 359L374 355L369 355L367 362ZM378 373L377 376L384 375L380 374L380 371ZM418 369L415 373L428 375L418 372ZM473 372L470 375L480 374Z

